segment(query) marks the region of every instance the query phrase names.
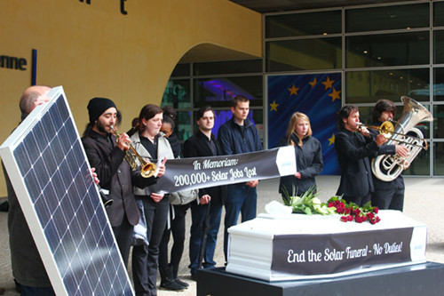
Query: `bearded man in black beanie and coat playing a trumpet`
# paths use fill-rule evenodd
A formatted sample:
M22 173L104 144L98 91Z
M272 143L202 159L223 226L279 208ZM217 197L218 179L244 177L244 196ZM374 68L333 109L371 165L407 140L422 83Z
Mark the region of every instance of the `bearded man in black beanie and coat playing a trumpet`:
M83 148L91 167L96 168L100 187L113 204L107 207L107 215L113 228L115 239L122 253L123 262L128 267L133 226L139 222L139 208L132 193L132 186L146 188L156 182L165 172L159 168L157 177L143 178L140 169L131 170L123 161L130 148L130 137L122 133L115 137L117 108L112 100L93 98L88 103L90 123L83 132Z

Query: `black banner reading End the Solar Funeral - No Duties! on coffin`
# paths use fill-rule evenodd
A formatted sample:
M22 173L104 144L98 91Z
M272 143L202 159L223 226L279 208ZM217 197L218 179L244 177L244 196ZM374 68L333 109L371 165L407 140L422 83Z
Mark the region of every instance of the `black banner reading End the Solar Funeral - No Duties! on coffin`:
M411 261L413 228L274 236L272 272L327 275Z

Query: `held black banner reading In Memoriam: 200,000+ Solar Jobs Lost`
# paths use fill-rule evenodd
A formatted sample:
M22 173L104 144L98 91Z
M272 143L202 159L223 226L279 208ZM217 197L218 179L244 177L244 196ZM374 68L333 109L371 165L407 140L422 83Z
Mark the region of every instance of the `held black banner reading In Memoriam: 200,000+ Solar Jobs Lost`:
M296 173L294 148L281 147L234 156L169 159L165 174L148 192L169 193L264 180Z

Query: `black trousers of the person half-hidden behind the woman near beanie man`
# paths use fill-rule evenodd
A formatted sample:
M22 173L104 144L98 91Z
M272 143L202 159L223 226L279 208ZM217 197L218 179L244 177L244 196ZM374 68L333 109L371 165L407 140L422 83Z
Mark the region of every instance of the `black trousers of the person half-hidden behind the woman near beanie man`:
M171 212L170 228L165 227L161 244L159 245L159 268L164 269L172 266L175 270L178 269L178 264L182 258L185 244L185 217L189 204L172 205L174 208L174 219ZM170 264L168 262L168 244L170 243L170 235L174 243L171 247Z

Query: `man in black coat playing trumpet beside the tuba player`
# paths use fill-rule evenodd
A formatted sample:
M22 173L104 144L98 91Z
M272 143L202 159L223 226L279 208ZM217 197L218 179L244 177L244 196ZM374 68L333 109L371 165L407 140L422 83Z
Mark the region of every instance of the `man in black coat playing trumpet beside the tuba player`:
M377 154L380 145L387 139L383 134L376 139L360 123L360 112L354 105L345 105L339 110L335 148L341 168L341 181L337 195L346 202L362 206L370 200L374 191L369 157Z

